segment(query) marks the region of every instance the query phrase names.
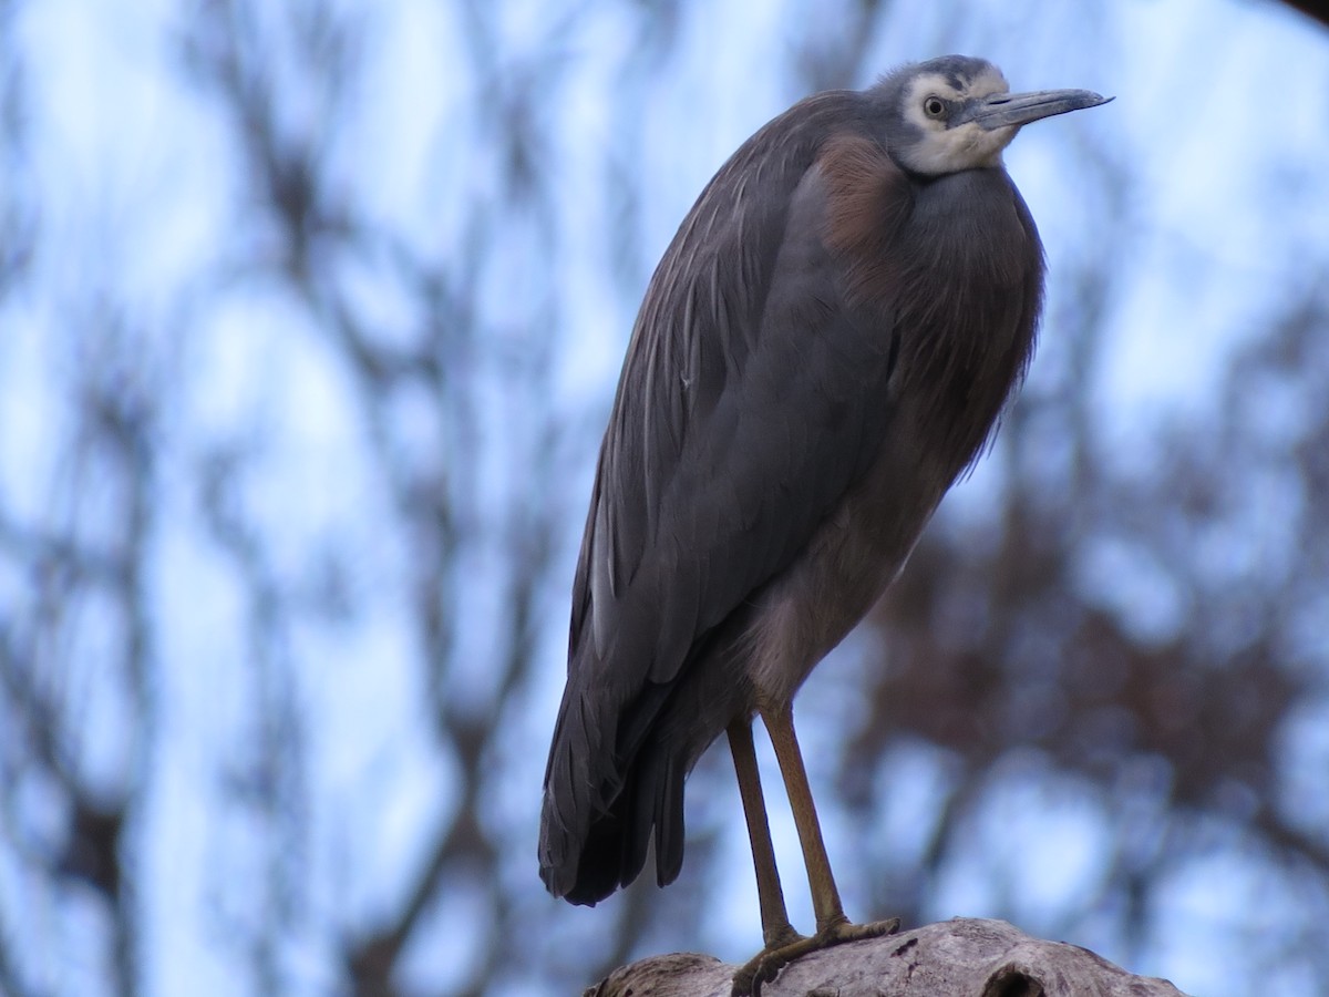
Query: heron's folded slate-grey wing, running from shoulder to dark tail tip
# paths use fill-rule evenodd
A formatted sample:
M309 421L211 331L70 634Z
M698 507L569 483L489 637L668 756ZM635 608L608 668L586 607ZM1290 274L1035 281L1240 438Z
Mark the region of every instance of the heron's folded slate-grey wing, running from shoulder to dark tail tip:
M642 776L655 782L625 790L654 713L707 634L799 554L880 439L897 352L889 308L853 299L819 160L859 100L819 94L754 136L651 279L573 585L541 832L556 895L594 903L635 876L651 827L668 856L659 875L676 873L694 759L653 755ZM621 792L631 799L615 815ZM597 822L637 823L622 831L622 871L578 869L603 839Z

